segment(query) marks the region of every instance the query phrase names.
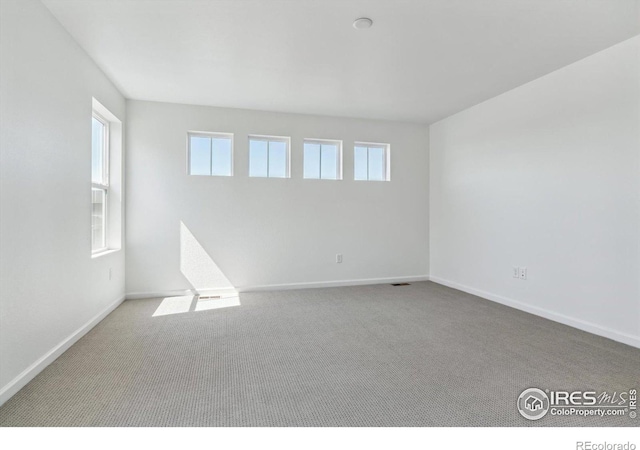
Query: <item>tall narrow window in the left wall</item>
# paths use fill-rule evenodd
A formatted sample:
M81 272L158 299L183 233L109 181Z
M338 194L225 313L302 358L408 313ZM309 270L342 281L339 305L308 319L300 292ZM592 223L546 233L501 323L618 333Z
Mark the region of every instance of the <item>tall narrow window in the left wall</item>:
M107 249L109 208L109 122L93 113L91 118L91 251Z

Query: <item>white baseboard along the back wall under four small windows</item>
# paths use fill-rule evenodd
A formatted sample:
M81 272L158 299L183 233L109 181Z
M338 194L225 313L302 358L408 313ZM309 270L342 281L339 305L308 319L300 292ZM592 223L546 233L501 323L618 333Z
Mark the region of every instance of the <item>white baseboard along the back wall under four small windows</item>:
M207 295L229 294L233 292L261 292L261 291L285 291L291 289L311 289L324 287L340 287L340 286L363 286L368 284L386 284L386 283L409 283L417 281L428 281L427 275L414 275L408 277L391 277L391 278L363 278L359 280L334 280L334 281L312 281L303 283L286 283L286 284L265 284L254 286L239 286L234 289L198 289L199 294ZM127 300L141 298L157 298L157 297L176 297L182 295L194 295L193 289L177 290L177 291L150 291L150 292L132 292L127 294Z

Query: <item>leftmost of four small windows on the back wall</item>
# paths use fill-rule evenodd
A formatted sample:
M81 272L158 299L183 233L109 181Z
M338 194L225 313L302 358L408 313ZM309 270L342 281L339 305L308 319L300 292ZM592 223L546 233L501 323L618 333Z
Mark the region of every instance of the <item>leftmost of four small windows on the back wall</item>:
M233 135L188 133L189 175L233 175Z

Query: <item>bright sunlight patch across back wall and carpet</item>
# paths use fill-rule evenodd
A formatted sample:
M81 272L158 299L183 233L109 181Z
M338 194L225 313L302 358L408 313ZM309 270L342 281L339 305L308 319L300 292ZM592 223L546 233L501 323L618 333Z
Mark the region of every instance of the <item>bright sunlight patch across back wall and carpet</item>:
M180 271L191 284L193 294L163 299L153 317L240 305L240 297L231 281L182 221Z

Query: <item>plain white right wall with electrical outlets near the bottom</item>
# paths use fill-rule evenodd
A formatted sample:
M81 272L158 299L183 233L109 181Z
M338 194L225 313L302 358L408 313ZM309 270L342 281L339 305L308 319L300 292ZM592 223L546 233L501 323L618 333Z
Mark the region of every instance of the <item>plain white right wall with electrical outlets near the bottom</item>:
M639 59L635 37L430 127L434 281L640 346Z

